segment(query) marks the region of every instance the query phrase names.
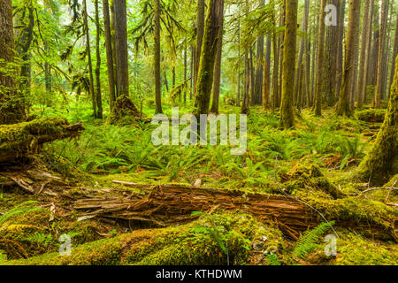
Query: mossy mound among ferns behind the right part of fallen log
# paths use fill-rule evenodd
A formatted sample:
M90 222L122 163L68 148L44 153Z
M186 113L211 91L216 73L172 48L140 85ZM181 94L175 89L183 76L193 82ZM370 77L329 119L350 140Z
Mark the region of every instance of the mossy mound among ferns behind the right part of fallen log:
M320 193L325 198L344 197L341 190L334 186L315 164L297 164L290 172L281 174L280 177L281 187L287 190L288 194L302 190L307 193Z

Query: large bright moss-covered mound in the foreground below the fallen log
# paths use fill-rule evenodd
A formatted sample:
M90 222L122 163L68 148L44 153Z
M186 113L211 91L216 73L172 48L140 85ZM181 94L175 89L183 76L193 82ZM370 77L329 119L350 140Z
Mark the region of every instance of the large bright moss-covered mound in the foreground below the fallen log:
M2 264L207 265L228 264L228 258L229 264L248 264L250 250L282 251L285 248L281 233L274 233L248 215L216 214L205 215L186 226L139 230L87 243L72 249L71 256L52 253Z

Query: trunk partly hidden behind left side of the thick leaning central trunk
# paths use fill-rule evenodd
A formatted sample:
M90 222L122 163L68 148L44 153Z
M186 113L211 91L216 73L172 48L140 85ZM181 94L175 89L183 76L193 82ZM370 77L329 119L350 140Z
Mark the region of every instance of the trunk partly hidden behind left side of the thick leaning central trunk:
M203 34L204 34L204 11L206 6L205 0L197 2L197 19L196 19L196 50L194 63L194 96L196 95L196 83L199 73L199 65L201 61ZM209 6L210 7L210 6Z

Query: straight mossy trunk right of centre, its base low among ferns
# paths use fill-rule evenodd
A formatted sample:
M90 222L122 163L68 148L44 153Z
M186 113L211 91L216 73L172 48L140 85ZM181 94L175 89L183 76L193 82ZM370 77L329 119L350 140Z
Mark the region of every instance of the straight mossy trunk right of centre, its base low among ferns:
M286 27L283 45L282 103L280 126L289 129L295 126L293 112L295 94L295 47L297 41L297 0L286 1Z

